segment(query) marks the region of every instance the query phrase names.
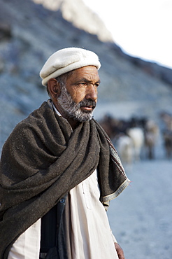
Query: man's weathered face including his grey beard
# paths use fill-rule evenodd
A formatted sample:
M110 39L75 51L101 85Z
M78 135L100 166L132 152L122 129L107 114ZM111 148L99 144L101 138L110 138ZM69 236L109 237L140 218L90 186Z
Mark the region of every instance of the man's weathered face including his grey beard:
M57 98L66 117L80 122L91 120L97 102L99 74L95 66L85 66L73 71Z

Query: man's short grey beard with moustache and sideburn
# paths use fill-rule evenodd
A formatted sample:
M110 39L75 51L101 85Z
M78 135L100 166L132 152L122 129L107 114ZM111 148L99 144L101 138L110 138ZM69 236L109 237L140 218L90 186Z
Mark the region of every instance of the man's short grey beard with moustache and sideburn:
M93 111L82 111L80 107L89 105L94 106L94 108L96 107L96 102L92 101L92 99L83 99L83 101L76 104L71 98L71 94L67 92L65 86L62 86L62 92L60 96L57 97L57 101L67 117L77 120L80 123L91 120L93 116Z

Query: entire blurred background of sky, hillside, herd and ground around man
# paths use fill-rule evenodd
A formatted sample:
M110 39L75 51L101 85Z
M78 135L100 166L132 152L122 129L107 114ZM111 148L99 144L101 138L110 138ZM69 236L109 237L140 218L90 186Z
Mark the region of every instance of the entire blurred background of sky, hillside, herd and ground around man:
M172 258L171 11L167 0L0 0L0 152L48 99L38 76L46 59L71 46L96 52L94 118L131 180L108 211L126 259Z

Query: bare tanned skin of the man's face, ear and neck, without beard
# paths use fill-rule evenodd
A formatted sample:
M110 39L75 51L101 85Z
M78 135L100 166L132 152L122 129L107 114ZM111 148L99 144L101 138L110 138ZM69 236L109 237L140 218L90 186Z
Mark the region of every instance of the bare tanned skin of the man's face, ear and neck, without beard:
M94 103L80 106L80 111L83 113L92 113L94 110L97 102L97 88L99 83L99 73L95 66L84 66L80 69L76 69L73 71L71 76L67 78L66 90L70 94L71 99L73 102L75 102L75 104L79 104L82 101L88 100ZM52 78L48 81L48 89L52 102L55 104L59 113L61 113L62 116L69 121L71 127L77 127L78 121L70 118L70 116L64 113L62 106L59 105L58 97L61 94L61 87L55 78Z

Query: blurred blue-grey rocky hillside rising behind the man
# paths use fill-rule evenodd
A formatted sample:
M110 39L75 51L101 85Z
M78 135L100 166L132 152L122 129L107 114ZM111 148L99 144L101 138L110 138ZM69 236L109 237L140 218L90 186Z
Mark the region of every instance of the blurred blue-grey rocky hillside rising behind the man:
M110 38L101 41L87 28L79 29L73 23L76 12L71 22L65 20L71 2L77 3L65 0L66 7L49 10L31 0L0 0L0 148L16 123L48 99L38 73L52 52L69 46L93 50L101 60L95 118L112 113L158 120L160 111L171 112L171 69L129 57ZM81 19L83 11L77 8ZM89 21L87 11L83 18ZM98 18L94 14L92 19Z

